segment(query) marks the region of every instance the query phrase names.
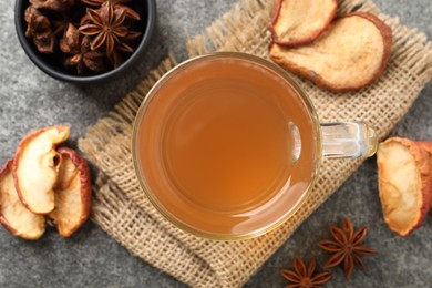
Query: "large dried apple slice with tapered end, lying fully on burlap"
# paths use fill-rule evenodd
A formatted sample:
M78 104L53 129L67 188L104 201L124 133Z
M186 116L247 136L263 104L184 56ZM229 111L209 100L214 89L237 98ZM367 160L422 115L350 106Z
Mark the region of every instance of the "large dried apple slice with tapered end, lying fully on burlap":
M271 43L270 58L321 88L346 92L381 75L391 45L388 25L371 13L356 12L335 20L310 45L287 49Z

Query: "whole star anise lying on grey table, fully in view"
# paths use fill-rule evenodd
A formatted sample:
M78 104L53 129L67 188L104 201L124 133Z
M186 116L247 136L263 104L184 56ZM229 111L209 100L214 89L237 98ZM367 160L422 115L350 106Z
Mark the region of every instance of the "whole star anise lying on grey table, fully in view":
M351 220L346 217L340 228L330 226L329 229L333 240L325 239L318 243L320 248L333 254L326 260L325 268L341 265L348 279L356 265L362 270L366 269L364 256L378 254L362 243L368 234L368 227L363 226L354 232Z

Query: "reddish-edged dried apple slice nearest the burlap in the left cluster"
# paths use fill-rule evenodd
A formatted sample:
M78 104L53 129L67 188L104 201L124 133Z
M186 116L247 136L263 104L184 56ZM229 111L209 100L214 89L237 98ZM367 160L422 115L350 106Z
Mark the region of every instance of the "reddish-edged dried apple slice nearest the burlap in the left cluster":
M71 236L86 220L92 202L88 163L75 151L59 148L62 155L59 181L55 185L55 208L49 214L59 234Z

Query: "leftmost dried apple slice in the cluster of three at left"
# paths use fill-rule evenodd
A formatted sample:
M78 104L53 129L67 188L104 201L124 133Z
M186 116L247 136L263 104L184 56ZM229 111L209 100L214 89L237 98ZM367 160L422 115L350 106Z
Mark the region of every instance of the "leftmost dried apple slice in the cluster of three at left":
M45 218L22 205L11 168L12 161L0 168L0 223L14 236L28 240L39 239L45 232Z

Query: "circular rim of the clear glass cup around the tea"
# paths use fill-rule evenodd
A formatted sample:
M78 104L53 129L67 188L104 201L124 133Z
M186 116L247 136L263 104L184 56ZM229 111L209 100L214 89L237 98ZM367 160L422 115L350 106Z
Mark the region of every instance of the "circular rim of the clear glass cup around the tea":
M138 161L137 161L136 143L137 143L138 126L141 124L141 120L143 119L143 116L145 114L145 111L148 107L148 104L151 103L152 99L155 97L158 88L161 85L163 85L164 83L166 83L175 73L177 73L178 71L181 71L185 66L191 65L194 62L203 61L206 59L220 59L220 58L248 60L248 61L255 62L257 64L261 64L261 65L272 70L278 75L280 75L282 79L285 79L292 86L292 89L298 93L298 95L301 97L301 100L304 101L305 105L307 106L307 109L309 111L310 119L312 120L313 127L316 130L317 157L315 161L315 169L312 172L311 181L310 181L309 185L307 186L307 188L305 189L305 192L302 193L301 198L297 202L297 204L294 207L290 208L290 210L288 213L286 213L282 217L280 217L276 222L274 222L270 225L267 225L260 229L257 229L257 230L254 230L254 232L250 232L247 234L241 234L241 235L220 235L220 234L213 234L213 233L208 233L208 232L198 230L198 229L195 229L194 227L191 227L187 224L184 224L183 222L176 219L174 216L169 215L169 213L167 213L163 208L163 205L158 204L157 199L154 198L154 196L153 196L153 194L152 194L152 192L151 192L151 189L145 181L145 176L144 176L144 173L142 171L142 167L138 165ZM191 58L191 59L182 62L181 64L174 66L173 69L171 69L162 78L160 78L160 80L152 86L152 89L147 92L144 101L141 103L140 109L138 109L136 116L135 116L135 120L134 120L133 134L132 134L132 160L133 160L134 171L135 171L136 176L138 178L141 188L144 191L145 195L147 196L147 198L152 203L153 207L155 207L156 210L165 219L167 219L169 223L174 224L176 227L178 227L178 228L181 228L181 229L183 229L192 235L207 238L207 239L213 239L213 240L241 240L241 239L255 238L255 237L261 236L270 230L276 229L277 227L282 225L286 220L291 218L292 215L295 215L298 212L298 209L305 204L306 199L310 196L312 187L317 181L319 166L320 166L321 160L322 160L322 151L321 150L322 150L322 147L321 147L321 128L320 128L320 122L318 119L318 114L317 114L310 99L306 95L304 90L280 66L278 66L275 63L269 62L263 58L247 54L247 53L243 53L243 52L207 53L207 54L198 55L195 58Z

